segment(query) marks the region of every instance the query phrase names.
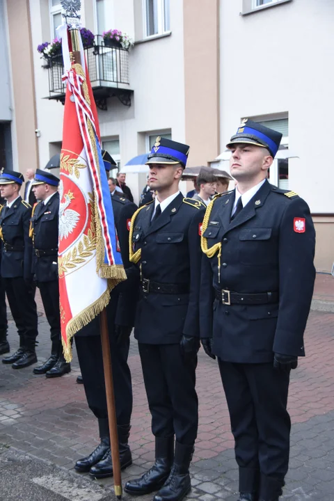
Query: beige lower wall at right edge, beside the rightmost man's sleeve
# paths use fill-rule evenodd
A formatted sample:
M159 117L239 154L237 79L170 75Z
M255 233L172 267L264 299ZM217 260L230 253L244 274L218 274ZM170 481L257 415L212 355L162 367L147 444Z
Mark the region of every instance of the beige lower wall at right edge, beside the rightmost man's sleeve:
M317 271L331 271L334 263L334 215L313 216L317 245L315 267Z

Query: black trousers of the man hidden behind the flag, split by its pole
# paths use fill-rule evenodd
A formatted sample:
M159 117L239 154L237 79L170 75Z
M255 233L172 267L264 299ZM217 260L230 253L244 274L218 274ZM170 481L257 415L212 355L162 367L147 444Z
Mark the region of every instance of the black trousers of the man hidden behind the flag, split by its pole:
M75 335L74 340L88 406L97 418L107 418L101 337L100 335ZM118 344L113 333L109 333L109 344L117 424L122 426L129 424L132 414L131 372L129 365L127 365L130 341L125 340Z

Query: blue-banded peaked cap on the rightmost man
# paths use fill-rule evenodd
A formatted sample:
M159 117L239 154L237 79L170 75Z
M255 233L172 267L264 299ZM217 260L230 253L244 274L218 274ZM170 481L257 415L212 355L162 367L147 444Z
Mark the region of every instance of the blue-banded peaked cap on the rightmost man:
M236 143L248 143L257 146L262 146L262 148L267 148L272 157L275 157L278 148L280 147L280 140L282 139L282 134L276 130L269 129L269 127L264 127L264 125L253 122L253 120L248 120L244 118L237 134L232 136L230 143L226 145L226 148L231 148L233 144Z

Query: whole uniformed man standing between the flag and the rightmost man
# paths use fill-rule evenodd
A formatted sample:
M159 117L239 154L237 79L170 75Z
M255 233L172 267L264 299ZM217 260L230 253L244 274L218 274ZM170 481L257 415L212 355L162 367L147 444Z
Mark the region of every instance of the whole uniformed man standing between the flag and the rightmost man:
M159 491L155 501L178 501L189 493L198 429L195 372L205 205L179 191L188 151L187 145L157 138L148 156L150 188L157 197L138 209L129 235L141 278L134 336L152 415L155 462L143 477L127 482L125 491Z

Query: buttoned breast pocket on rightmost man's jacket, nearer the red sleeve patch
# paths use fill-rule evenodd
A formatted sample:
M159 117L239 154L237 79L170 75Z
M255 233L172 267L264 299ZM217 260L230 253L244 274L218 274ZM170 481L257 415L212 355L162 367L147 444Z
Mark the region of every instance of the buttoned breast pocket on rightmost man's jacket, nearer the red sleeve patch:
M262 266L277 262L276 239L271 228L244 228L239 233L239 257L242 264Z

